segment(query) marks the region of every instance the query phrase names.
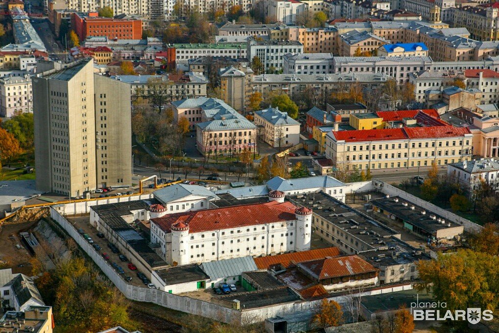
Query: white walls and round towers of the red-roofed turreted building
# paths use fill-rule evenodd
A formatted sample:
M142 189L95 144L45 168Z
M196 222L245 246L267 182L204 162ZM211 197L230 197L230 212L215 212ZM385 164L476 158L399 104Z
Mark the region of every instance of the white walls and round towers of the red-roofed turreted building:
M221 209L223 211L224 208ZM237 217L234 217L237 219ZM187 229L186 229L187 228ZM246 256L278 254L310 249L311 214L275 223L190 232L189 226L164 230L151 220L153 231L167 263L178 265L210 262ZM159 238L162 236L161 238Z

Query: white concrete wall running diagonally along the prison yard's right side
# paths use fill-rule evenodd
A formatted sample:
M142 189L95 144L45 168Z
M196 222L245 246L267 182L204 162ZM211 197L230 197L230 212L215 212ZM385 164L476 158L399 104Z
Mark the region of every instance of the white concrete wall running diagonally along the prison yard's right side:
M448 210L445 210L443 208L440 208L438 206L435 206L434 204L429 203L428 201L425 201L423 199L420 199L412 194L409 194L405 191L402 191L392 185L389 185L387 183L384 183L380 180L376 180L375 182L380 182L383 184L383 187L380 188L381 192L384 194L388 194L391 196L399 196L403 199L406 199L408 201L411 201L415 203L418 206L421 206L425 209L428 209L431 212L437 213L438 215L446 218L447 220L451 220L453 222L456 222L459 225L462 225L465 227L465 230L468 232L479 232L483 229L482 226L471 222L470 220L465 219L464 217L461 217L459 215L456 215L454 213L449 212ZM374 183L374 182L373 182Z

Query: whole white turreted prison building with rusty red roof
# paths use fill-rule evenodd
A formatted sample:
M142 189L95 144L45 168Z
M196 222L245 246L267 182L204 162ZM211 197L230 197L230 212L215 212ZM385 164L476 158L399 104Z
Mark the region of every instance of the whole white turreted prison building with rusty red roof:
M269 197L270 198L270 197ZM187 265L310 249L312 210L284 198L151 219L164 258Z

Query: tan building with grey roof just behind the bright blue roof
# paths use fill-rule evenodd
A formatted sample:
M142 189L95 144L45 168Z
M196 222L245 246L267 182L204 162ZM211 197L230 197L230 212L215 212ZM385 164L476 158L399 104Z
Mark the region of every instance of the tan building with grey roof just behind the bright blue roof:
M371 32L352 30L341 34L338 44L340 56L353 56L357 49L361 52L377 52L380 46L390 44L390 41Z

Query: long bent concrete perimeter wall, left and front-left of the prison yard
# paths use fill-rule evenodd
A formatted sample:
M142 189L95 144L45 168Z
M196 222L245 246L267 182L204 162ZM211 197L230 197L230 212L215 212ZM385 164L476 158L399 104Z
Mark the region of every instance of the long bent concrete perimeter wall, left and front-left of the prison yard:
M211 318L224 323L241 322L240 311L185 296L169 294L158 289L149 289L128 284L54 207L50 207L50 217L92 258L94 263L99 266L102 272L104 272L127 299L150 302L165 308Z

